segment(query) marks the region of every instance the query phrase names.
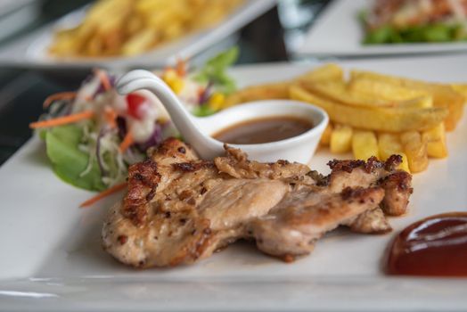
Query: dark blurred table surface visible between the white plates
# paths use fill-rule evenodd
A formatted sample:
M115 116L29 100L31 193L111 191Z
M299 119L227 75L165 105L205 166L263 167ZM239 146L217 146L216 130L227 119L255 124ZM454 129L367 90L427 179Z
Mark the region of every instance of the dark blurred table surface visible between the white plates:
M261 1L261 0L258 0ZM29 30L54 21L67 12L90 3L89 0L46 0L40 2L37 19L30 21L0 45L7 44ZM281 62L291 59L291 45L303 36L315 16L328 1L283 0L274 9L252 21L239 32L239 64ZM297 9L304 13L293 15ZM0 68L0 164L20 148L32 135L28 125L42 113L42 103L49 94L78 87L77 81L59 81L33 70Z

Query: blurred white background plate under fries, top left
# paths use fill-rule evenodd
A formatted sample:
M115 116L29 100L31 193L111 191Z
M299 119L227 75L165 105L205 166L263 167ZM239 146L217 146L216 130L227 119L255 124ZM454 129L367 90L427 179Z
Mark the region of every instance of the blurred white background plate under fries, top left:
M109 58L75 58L58 59L48 55L53 32L56 28L72 27L80 21L86 12L86 7L71 12L59 21L37 29L26 37L14 40L0 48L0 65L37 70L89 70L100 66L113 70L130 70L134 68L160 68L176 62L176 58L193 58L232 35L242 26L271 9L275 0L246 1L217 25L191 35L177 39L166 45L160 45L147 53L128 57Z

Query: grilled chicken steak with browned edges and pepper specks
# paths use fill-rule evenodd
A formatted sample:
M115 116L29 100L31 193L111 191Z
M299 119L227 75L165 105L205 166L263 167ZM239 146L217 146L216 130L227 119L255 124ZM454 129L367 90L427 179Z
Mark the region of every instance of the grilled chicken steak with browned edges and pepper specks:
M290 261L338 226L385 233L385 218L406 211L411 176L400 157L332 160L323 177L307 166L250 161L225 145L225 156L200 160L168 139L129 168L128 191L102 228L103 247L134 267L190 264L238 239Z

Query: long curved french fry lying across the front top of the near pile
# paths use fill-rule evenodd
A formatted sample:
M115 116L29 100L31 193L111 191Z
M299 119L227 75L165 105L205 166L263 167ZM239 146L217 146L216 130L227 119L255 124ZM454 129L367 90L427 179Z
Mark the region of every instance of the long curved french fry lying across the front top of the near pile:
M301 86L291 86L291 99L315 104L324 109L332 121L350 127L381 132L427 130L437 126L447 116L447 109L367 109L334 103L308 92Z

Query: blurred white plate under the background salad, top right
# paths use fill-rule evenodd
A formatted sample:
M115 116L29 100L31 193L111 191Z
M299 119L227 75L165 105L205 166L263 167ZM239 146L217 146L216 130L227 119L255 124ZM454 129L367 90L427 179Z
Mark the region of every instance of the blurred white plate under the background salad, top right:
M370 3L371 0L334 0L308 30L296 53L356 56L467 51L465 42L362 45L365 34L357 14L368 8Z

